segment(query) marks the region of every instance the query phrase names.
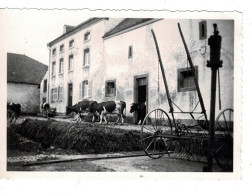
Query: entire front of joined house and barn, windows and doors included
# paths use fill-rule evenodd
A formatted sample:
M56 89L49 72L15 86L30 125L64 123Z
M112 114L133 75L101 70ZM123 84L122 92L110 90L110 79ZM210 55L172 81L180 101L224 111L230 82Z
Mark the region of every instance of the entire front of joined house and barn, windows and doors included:
M50 70L53 74L49 77L49 92L51 102L59 108L59 112L64 113L67 105L83 99L97 102L123 100L127 104L126 115L129 121L134 118L134 115L129 113L130 104L133 102L146 102L147 111L162 108L169 112L151 29L157 37L172 101L183 111L192 111L198 104L198 96L178 31L178 23L196 68L208 115L211 81L211 70L206 67L207 60L210 59L208 38L213 34L213 24L217 23L222 36L222 108L233 108L233 20L96 20L98 22L82 30L74 28L75 34L66 36L57 43L54 41L55 44L49 43L52 54L54 50L61 50L62 45L66 49L64 53L59 51L56 52L56 56L50 57ZM66 46L70 45L71 40L74 40L76 45L72 49L67 49ZM72 59L74 63L71 63ZM69 70L72 64L73 70ZM200 112L200 106L195 110ZM175 111L179 110L175 107ZM188 116L179 114L176 118L189 119Z

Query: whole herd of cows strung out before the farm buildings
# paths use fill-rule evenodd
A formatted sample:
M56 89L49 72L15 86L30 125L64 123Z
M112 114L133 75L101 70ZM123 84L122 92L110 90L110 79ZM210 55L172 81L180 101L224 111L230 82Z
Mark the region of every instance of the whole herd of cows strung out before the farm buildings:
M43 116L48 117L50 105L49 103L43 103L41 105ZM92 117L92 122L95 121L95 118L99 118L99 124L102 123L102 120L108 124L106 115L107 114L115 114L118 116L116 124L121 119L121 122L124 123L124 119L126 117L126 103L124 101L107 101L98 103L96 101L88 101L83 100L78 102L73 106L66 107L66 114L70 114L71 112L76 113L76 122L81 122L81 113L90 113ZM130 107L130 113L137 112L137 116L139 119L138 124L142 124L143 119L146 115L146 104L142 103L133 103ZM21 105L15 103L7 103L7 117L10 118L10 122L19 117L21 113Z

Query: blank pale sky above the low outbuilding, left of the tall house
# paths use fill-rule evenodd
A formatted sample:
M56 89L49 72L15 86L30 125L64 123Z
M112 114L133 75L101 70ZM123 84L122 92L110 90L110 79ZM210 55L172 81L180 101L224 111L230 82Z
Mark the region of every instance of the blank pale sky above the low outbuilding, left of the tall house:
M89 17L84 11L0 10L0 43L5 53L25 54L48 65L47 43Z

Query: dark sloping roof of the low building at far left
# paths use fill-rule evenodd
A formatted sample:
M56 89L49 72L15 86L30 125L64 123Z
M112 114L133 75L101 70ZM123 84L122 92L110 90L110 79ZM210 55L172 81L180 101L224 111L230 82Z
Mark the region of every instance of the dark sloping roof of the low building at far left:
M7 53L7 82L40 84L48 66L28 56Z

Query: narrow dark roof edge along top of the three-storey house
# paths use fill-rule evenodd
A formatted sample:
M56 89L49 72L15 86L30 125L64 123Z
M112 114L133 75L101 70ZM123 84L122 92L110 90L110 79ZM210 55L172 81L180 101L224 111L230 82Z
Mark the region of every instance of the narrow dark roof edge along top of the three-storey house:
M76 27L72 28L71 30L67 31L66 33L64 33L63 35L59 36L58 38L54 39L53 41L49 42L47 44L47 46L51 47L53 44L65 39L66 37L74 34L75 32L83 29L83 28L86 28L100 20L104 20L106 18L90 18L84 22L82 22L81 24L77 25Z

